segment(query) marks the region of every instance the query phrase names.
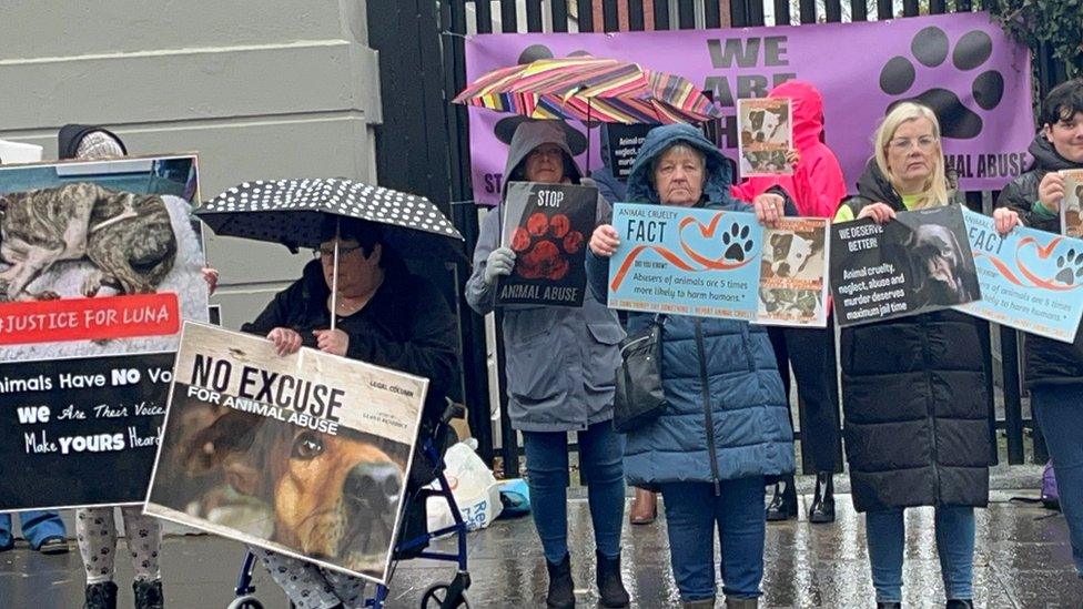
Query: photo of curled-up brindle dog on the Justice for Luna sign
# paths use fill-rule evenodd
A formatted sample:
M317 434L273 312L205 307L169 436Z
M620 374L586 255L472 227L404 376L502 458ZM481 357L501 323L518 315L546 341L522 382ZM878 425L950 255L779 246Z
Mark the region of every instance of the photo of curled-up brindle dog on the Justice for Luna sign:
M34 302L45 312L54 301L176 294L183 319L206 321L196 173L194 155L0 168L0 318ZM0 362L168 352L176 341L12 334Z

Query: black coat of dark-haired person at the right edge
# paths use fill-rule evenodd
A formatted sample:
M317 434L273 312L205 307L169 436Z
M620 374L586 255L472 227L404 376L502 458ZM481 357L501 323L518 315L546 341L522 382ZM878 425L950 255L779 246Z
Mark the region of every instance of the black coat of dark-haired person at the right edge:
M1083 164L1072 163L1057 154L1053 144L1041 133L1031 143L1030 153L1034 158L1034 163L1026 173L1004 186L996 199L996 206L1015 210L1023 223L1032 229L1060 233L1059 217L1042 217L1032 211L1034 202L1038 201L1038 186L1051 171L1083 169ZM1080 331L1075 333L1074 344L1028 334L1023 349L1025 358L1023 376L1028 387L1083 383L1083 323Z

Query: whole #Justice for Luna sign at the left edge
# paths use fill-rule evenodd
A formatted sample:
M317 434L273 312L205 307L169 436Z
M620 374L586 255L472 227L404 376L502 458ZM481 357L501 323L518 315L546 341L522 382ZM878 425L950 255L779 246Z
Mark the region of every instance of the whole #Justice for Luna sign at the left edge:
M0 168L0 511L146 495L183 319L194 155Z

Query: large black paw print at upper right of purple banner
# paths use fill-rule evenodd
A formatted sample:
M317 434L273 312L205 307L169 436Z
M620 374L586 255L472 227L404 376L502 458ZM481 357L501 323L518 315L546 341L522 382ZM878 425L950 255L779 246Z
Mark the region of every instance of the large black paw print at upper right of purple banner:
M966 108L954 91L934 87L917 94L908 93L914 84L917 70L938 69L944 65L949 54L951 64L963 72L984 65L993 54L993 41L989 34L981 30L966 32L952 50L948 34L940 28L930 26L914 35L910 42L910 52L912 58L893 57L880 71L880 90L898 98L888 106L888 111L901 101L917 101L937 113L945 138L976 138L982 131L982 118ZM973 94L978 108L993 110L1004 97L1004 77L996 70L985 70L974 78L970 93Z

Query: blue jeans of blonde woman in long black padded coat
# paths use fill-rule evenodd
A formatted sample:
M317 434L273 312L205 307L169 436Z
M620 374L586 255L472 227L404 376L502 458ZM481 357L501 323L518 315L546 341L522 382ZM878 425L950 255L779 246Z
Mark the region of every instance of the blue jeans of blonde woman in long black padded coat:
M864 515L872 586L877 602L902 602L902 555L905 525L902 508ZM937 554L949 600L974 598L974 508L937 508Z

